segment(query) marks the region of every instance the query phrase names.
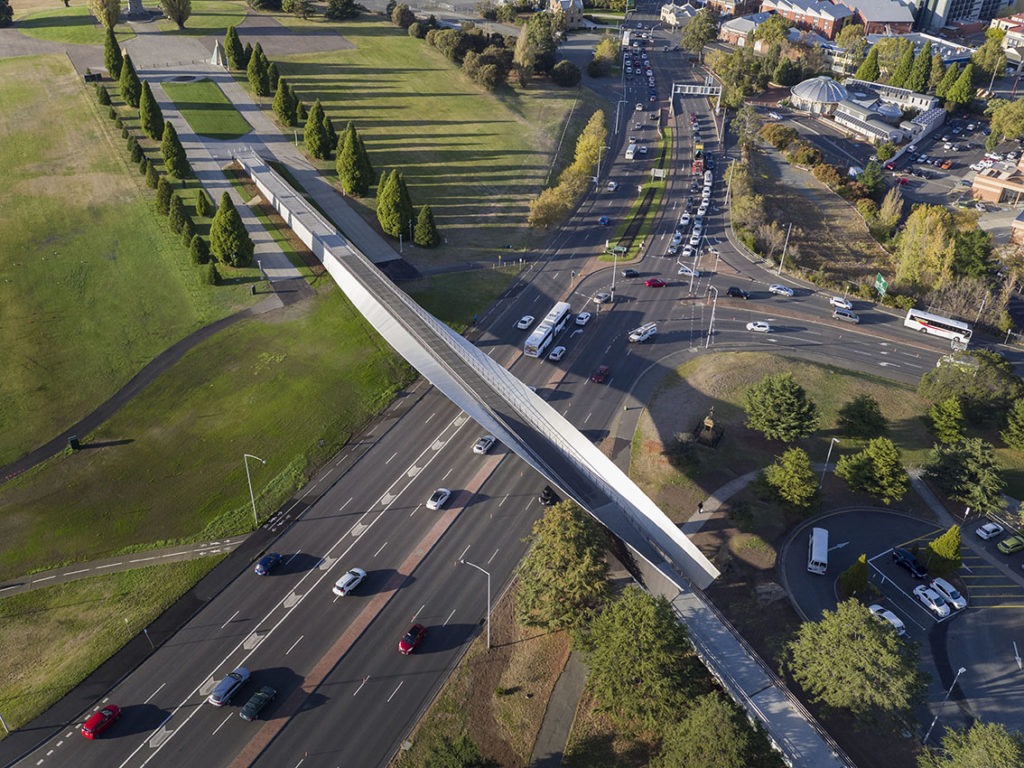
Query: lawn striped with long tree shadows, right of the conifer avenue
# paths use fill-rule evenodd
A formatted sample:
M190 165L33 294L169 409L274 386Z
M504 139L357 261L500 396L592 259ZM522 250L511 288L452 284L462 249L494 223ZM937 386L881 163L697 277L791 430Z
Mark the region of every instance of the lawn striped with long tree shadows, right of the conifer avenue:
M285 56L279 71L307 103L321 99L339 132L355 124L376 174L399 169L414 205L430 205L444 242L415 252L415 262L495 261L497 249L539 246L546 233L525 226L528 201L571 157L596 109L592 94L579 91L578 100L578 91L546 84L492 94L379 18L316 27L355 47ZM319 166L334 175L334 161ZM376 225L372 197L351 204Z

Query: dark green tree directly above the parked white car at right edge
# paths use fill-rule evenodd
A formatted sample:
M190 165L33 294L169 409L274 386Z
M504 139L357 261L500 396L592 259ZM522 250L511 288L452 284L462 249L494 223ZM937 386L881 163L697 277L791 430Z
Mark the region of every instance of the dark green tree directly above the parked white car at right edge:
M995 451L980 437L932 449L928 476L948 496L976 513L997 512L1006 506Z

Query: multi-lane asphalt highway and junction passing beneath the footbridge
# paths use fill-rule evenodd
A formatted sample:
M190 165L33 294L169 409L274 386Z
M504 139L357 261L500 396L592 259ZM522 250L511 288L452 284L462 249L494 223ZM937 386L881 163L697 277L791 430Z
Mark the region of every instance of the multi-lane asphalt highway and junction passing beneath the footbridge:
M668 54L660 53L659 45L651 50L659 89L667 94L674 79L687 76L686 65L679 56L662 60ZM621 96L609 87L610 100L617 100ZM645 85L626 87L630 104L639 100L636 87L646 90ZM664 97L659 104L665 105ZM711 125L698 99L689 99L685 110ZM674 132L675 153L688 163L684 120L685 114ZM559 234L556 250L529 270L512 292L514 298L488 313L478 342L592 440L615 436L609 430L641 376L660 376L687 355L703 351L713 310L712 350L800 354L904 382L915 381L948 350L940 340L912 336L901 319L882 312L862 312L860 326L842 325L830 318L827 296L799 289L793 298L770 295L767 286L780 281L731 249L721 214L711 217L709 231L719 258L713 264L706 257L701 268L709 275L695 281L691 293L689 280L676 274L675 259L660 256L678 217L672 208L675 198L667 202L648 255L635 265L642 276L616 276L614 303L594 304L591 297L610 288L613 266L577 275L608 237L609 227L598 225L597 217L621 220L635 183L650 166L649 161L626 161L621 147L609 144L602 181L618 179L618 190L609 195L603 184L598 186ZM715 200L724 205L720 182ZM643 280L651 276L669 285L644 287ZM726 298L730 285L750 291L750 300ZM718 291L717 301L710 286ZM543 315L565 296L574 311L586 309L596 316L586 328L566 329L557 342L568 348L561 362L522 357L528 332L516 330L516 321L527 313ZM748 332L751 319L768 321L773 332ZM654 342L628 344L629 330L649 321L658 325ZM590 380L599 365L610 368L602 384ZM482 631L486 579L460 559L492 573L497 600L542 512L536 497L543 478L501 445L489 456L473 455L471 446L480 434L465 415L429 390L283 531L273 545L285 555L276 571L264 578L248 568L240 572L111 691L105 700L122 707L124 714L109 734L87 743L69 727L19 765L387 764L468 641ZM442 485L455 492L452 502L443 510L427 510L427 498ZM354 594L335 597L335 581L356 566L368 572L367 580ZM396 646L414 622L425 625L428 636L416 652L402 656ZM253 677L236 700L224 708L207 703L215 683L238 666L247 667ZM261 685L276 688L278 699L265 712L265 721L245 722L239 709Z

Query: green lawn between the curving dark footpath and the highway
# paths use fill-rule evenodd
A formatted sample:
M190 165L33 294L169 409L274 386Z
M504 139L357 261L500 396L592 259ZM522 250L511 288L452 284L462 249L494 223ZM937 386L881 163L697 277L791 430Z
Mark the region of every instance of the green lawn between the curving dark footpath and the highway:
M325 284L326 285L326 284ZM386 406L409 367L340 290L241 321L99 429L2 487L0 579L146 543L252 529Z

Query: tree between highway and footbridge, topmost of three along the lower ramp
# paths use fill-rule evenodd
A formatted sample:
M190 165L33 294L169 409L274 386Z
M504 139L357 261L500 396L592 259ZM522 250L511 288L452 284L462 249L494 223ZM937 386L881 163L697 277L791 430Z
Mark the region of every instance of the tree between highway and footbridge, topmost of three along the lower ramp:
M606 546L593 518L574 502L548 507L534 523L519 566L517 620L548 630L587 626L611 594Z

